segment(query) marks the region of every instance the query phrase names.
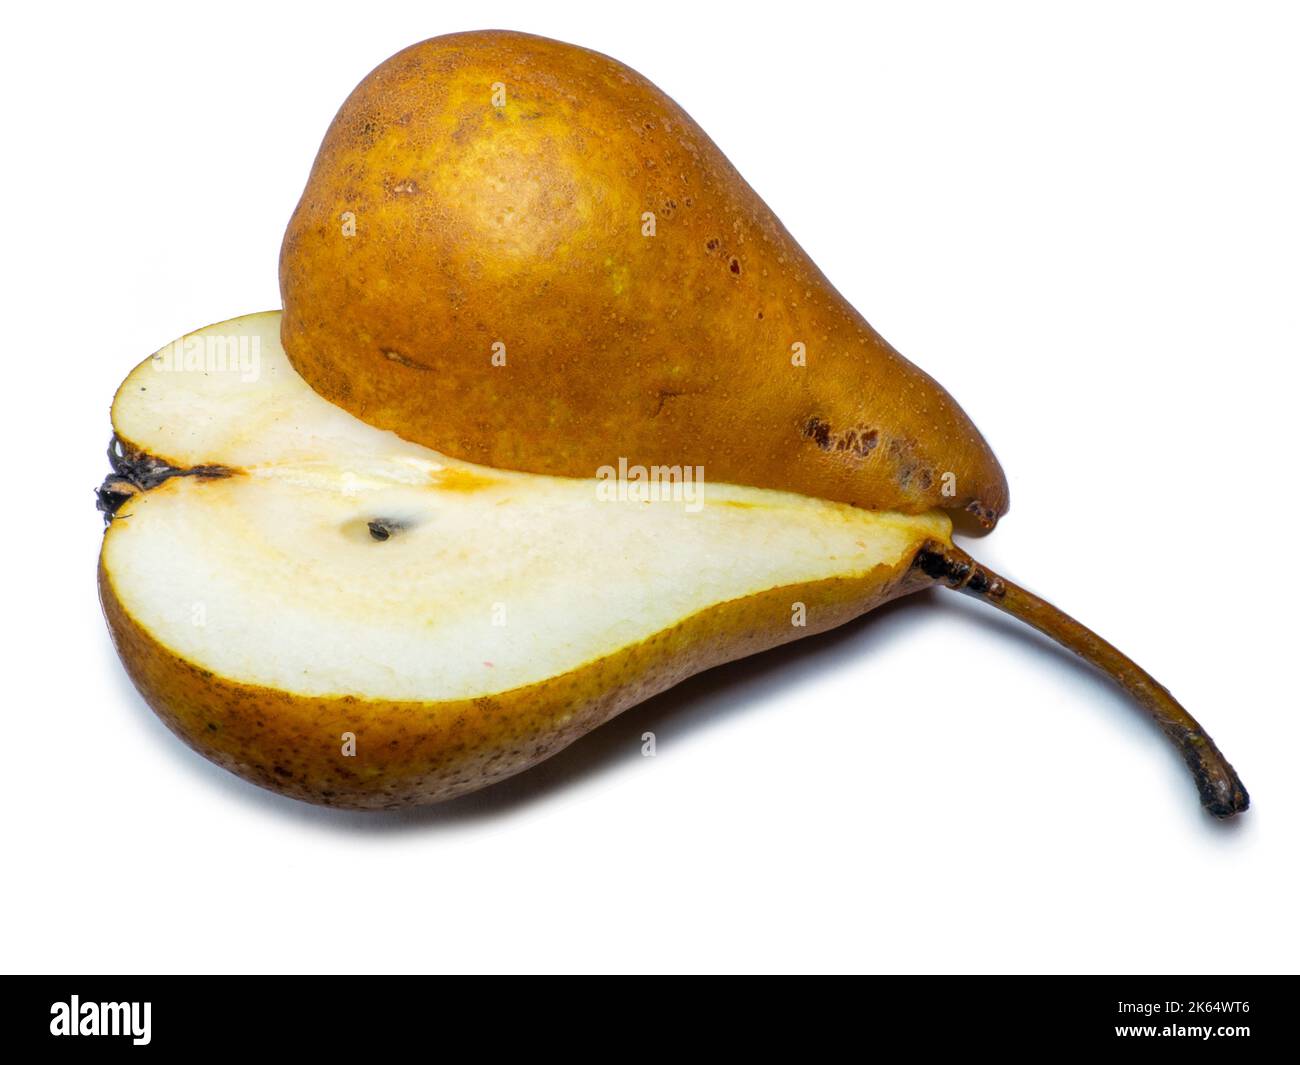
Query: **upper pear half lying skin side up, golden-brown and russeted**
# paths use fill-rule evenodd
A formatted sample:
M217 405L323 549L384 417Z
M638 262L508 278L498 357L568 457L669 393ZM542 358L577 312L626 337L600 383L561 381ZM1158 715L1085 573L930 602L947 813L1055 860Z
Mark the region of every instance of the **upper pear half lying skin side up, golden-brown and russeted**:
M382 64L325 135L280 278L312 388L448 455L696 464L985 525L1008 507L956 401L681 108L597 52L485 31Z

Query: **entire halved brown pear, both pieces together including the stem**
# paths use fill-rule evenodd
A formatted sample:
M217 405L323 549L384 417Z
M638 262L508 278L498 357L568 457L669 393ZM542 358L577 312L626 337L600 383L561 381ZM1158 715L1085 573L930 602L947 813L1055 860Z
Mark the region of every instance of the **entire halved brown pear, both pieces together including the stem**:
M459 34L334 120L283 313L113 402L99 583L162 720L295 798L452 798L711 666L945 586L1061 642L1247 809L1197 722L953 544L1006 482L671 100Z

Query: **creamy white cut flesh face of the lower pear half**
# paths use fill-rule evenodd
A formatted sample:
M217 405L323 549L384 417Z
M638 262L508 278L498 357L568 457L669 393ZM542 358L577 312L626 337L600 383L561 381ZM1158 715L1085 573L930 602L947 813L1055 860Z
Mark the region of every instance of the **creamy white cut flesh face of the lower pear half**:
M231 471L172 477L133 498L109 529L104 566L151 635L246 684L486 696L576 670L716 603L893 567L948 536L940 514L872 514L707 481L698 502L602 499L597 480L455 462L317 397L285 359L278 329L268 313L198 334L255 339L254 380L151 359L113 406L118 437L135 449L173 467ZM792 623L790 605L783 620Z

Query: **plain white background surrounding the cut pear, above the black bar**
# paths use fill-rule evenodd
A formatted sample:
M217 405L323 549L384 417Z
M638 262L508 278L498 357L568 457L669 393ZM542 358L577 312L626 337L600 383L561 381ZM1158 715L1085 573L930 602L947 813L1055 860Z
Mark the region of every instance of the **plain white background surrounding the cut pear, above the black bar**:
M1296 16L476 7L6 16L4 967L1294 971ZM1167 684L1244 818L1204 815L1106 681L946 593L406 815L280 798L166 732L95 598L113 390L280 306L338 104L480 22L696 117L984 430L1013 508L974 550Z

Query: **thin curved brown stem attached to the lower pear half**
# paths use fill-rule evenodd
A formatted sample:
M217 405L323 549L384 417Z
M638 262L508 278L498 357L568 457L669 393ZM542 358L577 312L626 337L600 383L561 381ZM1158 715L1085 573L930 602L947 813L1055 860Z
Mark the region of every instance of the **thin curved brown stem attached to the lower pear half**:
M948 588L983 599L1032 625L1128 692L1182 753L1196 779L1201 805L1214 817L1232 817L1251 805L1236 770L1200 723L1150 674L1092 629L950 544L927 544L913 566Z

